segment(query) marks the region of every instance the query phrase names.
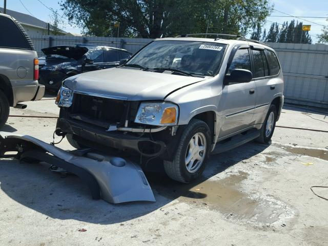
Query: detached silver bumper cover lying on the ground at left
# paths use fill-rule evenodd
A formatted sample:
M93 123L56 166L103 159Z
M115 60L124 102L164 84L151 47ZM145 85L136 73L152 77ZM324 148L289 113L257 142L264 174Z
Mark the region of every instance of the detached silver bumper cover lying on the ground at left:
M18 154L7 156L5 153L9 151ZM67 152L34 137L8 132L0 132L0 157L53 161L55 166L68 169L88 182L94 199L100 196L110 203L155 201L141 168L119 157L90 149Z

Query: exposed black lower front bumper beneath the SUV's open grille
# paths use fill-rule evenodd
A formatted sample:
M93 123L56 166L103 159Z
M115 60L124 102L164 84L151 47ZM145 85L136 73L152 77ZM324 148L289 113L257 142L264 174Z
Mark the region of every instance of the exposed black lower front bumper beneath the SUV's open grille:
M67 118L57 120L56 131L74 134L77 136L78 139L76 140L78 142L88 147L99 144L123 151L134 151L147 157L159 156L167 148L163 141L128 135L122 132L106 132L102 128Z

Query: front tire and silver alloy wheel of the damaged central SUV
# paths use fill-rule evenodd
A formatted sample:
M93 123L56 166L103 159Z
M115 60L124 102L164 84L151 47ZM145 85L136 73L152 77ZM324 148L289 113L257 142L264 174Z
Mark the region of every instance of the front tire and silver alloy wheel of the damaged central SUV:
M198 147L194 147L194 152L192 152L190 144L191 142L195 142L195 136L198 139ZM195 145L193 144L193 146ZM202 148L203 150L200 150ZM173 161L164 160L165 172L170 178L176 181L190 183L204 171L210 151L211 131L209 126L202 120L192 119L181 135ZM186 164L188 156L190 156L189 159L191 160Z

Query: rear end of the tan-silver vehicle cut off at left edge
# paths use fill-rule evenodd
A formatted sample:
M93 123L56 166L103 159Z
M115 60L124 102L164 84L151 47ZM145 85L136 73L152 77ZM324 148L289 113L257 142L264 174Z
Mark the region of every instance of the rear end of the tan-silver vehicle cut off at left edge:
M0 13L0 128L9 116L9 107L39 100L45 87L38 84L38 59L24 28L11 16Z

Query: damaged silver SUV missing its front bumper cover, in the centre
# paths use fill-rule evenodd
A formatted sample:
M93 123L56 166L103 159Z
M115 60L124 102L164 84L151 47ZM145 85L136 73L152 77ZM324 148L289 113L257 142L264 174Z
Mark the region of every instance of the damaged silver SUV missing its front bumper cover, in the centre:
M163 160L172 179L190 182L211 153L269 142L282 91L277 55L264 43L222 34L159 38L118 68L67 78L56 133L75 148Z

